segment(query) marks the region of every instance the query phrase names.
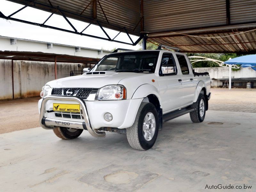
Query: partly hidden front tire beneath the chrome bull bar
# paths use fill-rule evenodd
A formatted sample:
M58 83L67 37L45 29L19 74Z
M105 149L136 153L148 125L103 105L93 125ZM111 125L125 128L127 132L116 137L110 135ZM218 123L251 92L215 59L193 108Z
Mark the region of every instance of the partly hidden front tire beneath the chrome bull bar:
M75 139L81 135L83 129L68 129L66 127L57 127L53 129L53 132L60 139Z

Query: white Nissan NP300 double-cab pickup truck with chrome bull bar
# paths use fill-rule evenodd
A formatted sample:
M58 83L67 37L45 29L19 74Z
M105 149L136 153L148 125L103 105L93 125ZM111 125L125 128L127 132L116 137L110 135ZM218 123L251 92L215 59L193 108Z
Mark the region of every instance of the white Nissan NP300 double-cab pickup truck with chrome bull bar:
M68 140L83 130L126 133L132 148L147 150L164 122L187 113L204 121L209 74L195 73L186 54L159 49L114 51L83 75L48 82L38 102L41 126Z

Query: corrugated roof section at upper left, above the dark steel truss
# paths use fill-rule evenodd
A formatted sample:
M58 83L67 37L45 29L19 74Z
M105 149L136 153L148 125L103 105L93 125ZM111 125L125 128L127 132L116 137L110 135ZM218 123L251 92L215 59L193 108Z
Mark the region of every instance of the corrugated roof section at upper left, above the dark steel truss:
M32 2L30 0L9 1L24 5ZM133 35L139 35L141 31L140 26L134 29L140 20L140 0L129 0L129 2L123 0L96 0L96 18L93 18L92 0L34 0L33 3L33 5L30 5L31 7L48 12L53 12L56 10L56 7L59 7L60 10L65 12L67 17L72 19L93 22L94 24L97 24L96 20L98 20L100 24L106 28L124 31L125 27L127 31ZM56 14L60 13L56 12Z

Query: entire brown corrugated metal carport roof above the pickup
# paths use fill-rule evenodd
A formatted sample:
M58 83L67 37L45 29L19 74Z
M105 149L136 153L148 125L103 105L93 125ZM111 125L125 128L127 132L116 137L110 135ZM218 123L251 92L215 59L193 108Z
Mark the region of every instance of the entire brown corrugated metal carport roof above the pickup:
M20 4L32 2L31 0L10 1ZM48 12L53 12L59 6L65 11L66 16L73 19L94 23L97 19L103 27L114 30L123 30L125 27L134 35L144 32L148 34L149 40L178 46L183 52L246 54L256 51L255 31L229 36L234 33L233 31L237 33L256 28L255 0L34 0L33 2L34 4L29 6ZM96 2L97 18L93 17L93 2ZM144 23L144 28L141 27L140 21ZM229 37L197 38L175 34L173 33L175 31L205 37L227 35Z

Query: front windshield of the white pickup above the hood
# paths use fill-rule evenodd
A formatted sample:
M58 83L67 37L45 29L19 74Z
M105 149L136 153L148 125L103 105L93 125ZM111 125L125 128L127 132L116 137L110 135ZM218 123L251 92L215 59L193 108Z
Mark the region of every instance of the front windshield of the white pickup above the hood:
M95 66L95 71L154 73L158 51L122 52L106 56Z

